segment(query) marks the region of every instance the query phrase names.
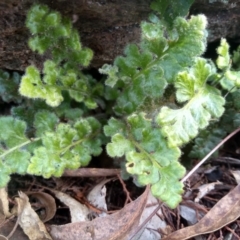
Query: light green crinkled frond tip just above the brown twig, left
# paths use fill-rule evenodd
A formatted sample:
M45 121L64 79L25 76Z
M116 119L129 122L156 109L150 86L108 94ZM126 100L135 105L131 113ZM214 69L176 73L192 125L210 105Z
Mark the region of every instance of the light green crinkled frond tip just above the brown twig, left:
M47 131L42 136L43 146L34 150L27 172L59 177L65 169L86 166L91 155L101 153L101 141L95 139L99 134L100 124L94 118L70 124L60 123L55 131Z

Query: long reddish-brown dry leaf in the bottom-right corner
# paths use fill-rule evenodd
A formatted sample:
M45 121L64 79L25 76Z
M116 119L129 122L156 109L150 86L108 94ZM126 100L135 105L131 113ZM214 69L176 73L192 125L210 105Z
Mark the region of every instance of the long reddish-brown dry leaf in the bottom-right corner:
M180 229L163 239L184 240L191 237L214 232L235 221L240 216L240 184L224 196L195 225Z

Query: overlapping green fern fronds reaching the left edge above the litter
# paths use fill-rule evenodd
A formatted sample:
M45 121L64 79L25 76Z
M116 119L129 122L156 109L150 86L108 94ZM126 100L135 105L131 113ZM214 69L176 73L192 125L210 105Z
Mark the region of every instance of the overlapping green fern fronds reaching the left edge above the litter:
M35 138L26 135L27 126L12 117L0 118L0 159L4 177L3 187L12 173L61 176L63 171L88 165L91 156L102 151L101 140L95 135L101 130L94 118L78 120L72 126L58 123L58 117L49 111L35 114ZM34 144L35 142L40 144Z

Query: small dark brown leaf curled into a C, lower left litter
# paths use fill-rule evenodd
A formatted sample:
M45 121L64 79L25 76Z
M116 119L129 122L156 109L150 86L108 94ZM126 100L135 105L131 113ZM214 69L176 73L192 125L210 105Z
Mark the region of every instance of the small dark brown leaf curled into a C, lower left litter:
M44 208L44 214L39 216L43 222L47 222L55 216L57 210L56 202L50 194L44 192L26 192L26 194L31 200L37 200L40 207Z

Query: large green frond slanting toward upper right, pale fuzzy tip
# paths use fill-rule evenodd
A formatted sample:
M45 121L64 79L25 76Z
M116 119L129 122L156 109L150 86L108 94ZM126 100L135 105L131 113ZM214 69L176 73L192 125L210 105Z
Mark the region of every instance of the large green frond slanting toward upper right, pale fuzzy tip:
M164 94L167 83L175 81L176 74L188 67L206 48L206 18L202 15L190 20L177 18L169 39L161 21L151 16L143 22L142 41L138 47L130 44L125 57L117 57L114 65L100 71L108 74L106 84L122 91L115 111L130 115L142 110L146 99L157 101ZM147 111L147 109L144 109Z

